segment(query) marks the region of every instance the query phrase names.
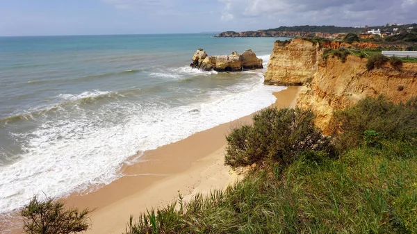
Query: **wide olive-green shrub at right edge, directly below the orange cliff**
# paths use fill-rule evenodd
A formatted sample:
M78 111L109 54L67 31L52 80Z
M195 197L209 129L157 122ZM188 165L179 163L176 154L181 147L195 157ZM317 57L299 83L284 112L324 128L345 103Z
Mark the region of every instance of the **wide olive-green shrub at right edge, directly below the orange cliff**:
M383 139L415 142L416 98L395 105L382 96L375 99L368 97L352 108L336 111L332 122L336 146L340 151L363 143L375 144ZM370 141L374 133L376 138Z

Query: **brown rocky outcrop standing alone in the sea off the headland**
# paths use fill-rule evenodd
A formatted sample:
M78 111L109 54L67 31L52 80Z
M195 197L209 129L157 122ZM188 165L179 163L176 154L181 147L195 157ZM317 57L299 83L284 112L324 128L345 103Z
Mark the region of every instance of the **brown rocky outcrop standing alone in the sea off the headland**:
M204 71L240 72L242 69L263 68L262 60L252 50L244 51L242 55L233 52L229 56L207 56L204 49L198 49L192 60L190 67Z

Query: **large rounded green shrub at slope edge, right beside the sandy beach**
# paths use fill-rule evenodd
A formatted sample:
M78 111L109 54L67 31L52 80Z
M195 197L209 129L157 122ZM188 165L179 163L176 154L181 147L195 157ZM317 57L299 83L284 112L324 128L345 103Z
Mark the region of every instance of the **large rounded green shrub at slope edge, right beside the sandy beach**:
M314 126L310 110L267 108L253 119L253 126L235 128L226 137L226 165L242 167L268 160L286 166L304 151L331 149L329 138Z

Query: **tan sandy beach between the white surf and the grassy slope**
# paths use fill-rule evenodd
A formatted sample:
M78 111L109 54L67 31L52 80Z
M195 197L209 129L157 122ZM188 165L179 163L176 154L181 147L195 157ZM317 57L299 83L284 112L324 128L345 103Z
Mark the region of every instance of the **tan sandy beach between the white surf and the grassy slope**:
M275 92L272 106L294 107L300 87ZM178 193L190 199L197 192L224 189L238 175L224 165L225 136L231 128L250 124L252 115L191 135L172 144L146 151L140 162L125 166L125 176L96 192L67 199L68 206L96 208L89 234L122 233L130 215L166 206Z

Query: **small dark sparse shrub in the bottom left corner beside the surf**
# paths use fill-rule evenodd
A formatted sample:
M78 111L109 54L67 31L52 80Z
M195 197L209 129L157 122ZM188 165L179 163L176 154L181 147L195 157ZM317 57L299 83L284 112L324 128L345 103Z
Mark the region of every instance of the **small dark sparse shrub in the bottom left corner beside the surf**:
M28 205L20 210L24 218L23 230L30 234L70 234L88 229L90 210L79 211L77 208L65 210L64 203L46 199L39 201L33 197Z

